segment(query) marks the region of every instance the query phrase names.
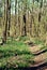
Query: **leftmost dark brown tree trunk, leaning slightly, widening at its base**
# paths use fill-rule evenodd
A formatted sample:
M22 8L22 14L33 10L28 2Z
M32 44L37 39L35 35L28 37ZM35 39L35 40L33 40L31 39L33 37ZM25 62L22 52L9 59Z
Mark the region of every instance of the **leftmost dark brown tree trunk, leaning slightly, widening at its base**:
M7 32L7 0L5 1L6 6L5 6L5 27L3 31L3 38L2 38L2 43L6 43L6 32Z

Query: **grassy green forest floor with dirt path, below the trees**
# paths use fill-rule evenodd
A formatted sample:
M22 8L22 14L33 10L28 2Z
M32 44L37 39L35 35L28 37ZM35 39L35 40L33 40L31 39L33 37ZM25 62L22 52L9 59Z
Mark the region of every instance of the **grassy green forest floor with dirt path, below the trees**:
M0 70L24 68L47 70L47 46L44 42L20 38L19 41L10 39L6 44L0 45Z

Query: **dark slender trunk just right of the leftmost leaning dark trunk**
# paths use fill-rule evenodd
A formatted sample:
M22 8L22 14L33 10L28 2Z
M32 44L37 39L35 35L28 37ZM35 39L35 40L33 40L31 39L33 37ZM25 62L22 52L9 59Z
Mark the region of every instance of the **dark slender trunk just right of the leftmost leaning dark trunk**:
M11 0L7 0L7 36L10 37L11 27Z

